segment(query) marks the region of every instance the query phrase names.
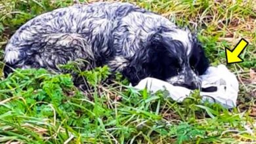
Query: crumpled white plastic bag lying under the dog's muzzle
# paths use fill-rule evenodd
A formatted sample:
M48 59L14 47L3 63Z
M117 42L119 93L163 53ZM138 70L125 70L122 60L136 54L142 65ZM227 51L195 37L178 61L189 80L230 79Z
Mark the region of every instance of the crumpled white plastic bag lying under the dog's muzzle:
M211 86L217 87L217 91L215 92L200 92L203 101L208 99L211 103L221 103L221 105L226 108L236 107L236 99L238 98L239 91L238 80L225 65L209 67L207 71L205 71L205 74L200 76L200 79L202 80L202 88L209 88ZM153 93L158 90L167 90L169 96L178 102L183 101L183 99L192 92L192 90L188 88L173 86L168 82L151 77L140 81L135 88L139 90L147 88Z

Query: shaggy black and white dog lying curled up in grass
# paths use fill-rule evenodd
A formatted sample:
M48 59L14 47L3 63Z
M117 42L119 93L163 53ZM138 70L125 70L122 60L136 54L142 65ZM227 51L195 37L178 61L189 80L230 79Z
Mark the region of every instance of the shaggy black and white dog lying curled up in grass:
M133 85L154 77L190 89L200 87L198 75L209 66L188 29L129 3L93 3L56 9L20 27L5 49L4 71L62 72L56 65L77 59L91 68L108 65Z

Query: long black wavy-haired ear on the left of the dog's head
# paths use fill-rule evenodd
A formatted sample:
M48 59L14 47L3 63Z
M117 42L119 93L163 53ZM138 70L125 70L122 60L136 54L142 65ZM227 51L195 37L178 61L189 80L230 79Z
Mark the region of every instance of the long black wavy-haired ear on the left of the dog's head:
M129 58L129 65L122 71L129 82L136 85L141 79L152 75L153 71L160 73L159 57L163 53L160 49L164 47L161 45L162 36L159 33L148 35L145 47L137 49L136 54Z

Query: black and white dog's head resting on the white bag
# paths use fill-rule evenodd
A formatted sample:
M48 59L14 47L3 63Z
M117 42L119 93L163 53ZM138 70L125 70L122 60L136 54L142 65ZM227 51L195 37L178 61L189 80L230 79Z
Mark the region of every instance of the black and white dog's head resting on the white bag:
M154 33L149 45L152 77L175 86L200 88L202 75L209 62L202 46L188 29L174 29Z

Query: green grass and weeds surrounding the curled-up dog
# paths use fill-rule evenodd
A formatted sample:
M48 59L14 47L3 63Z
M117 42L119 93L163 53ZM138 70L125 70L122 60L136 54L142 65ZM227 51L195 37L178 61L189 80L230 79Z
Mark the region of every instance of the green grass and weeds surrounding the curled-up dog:
M5 45L19 26L43 12L82 2L0 1L0 67ZM7 79L0 76L0 143L256 143L256 86L249 77L249 69L256 67L256 2L133 3L197 31L211 65L226 63L224 47L234 47L241 38L249 41L244 62L228 65L240 82L238 107L202 103L198 92L176 103L165 92L137 91L118 74L108 85L103 82L108 67L79 71L93 88L87 93L77 90L68 74L18 70Z

